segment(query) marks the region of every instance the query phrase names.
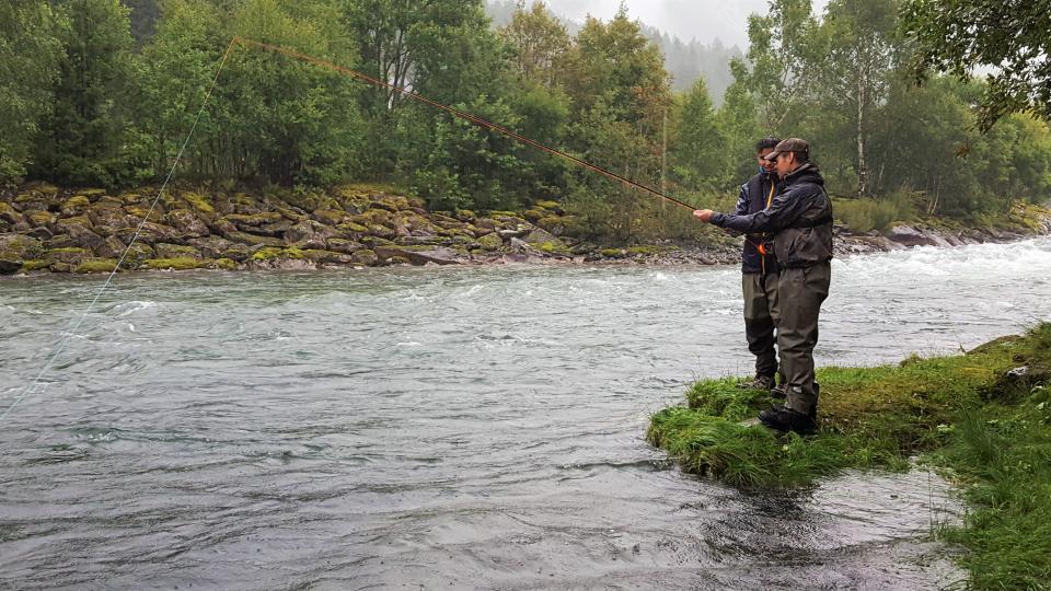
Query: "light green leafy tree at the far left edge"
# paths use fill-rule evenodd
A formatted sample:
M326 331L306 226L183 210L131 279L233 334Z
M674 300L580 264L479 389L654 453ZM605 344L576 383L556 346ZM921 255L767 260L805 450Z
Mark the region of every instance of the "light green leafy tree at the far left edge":
M62 55L51 8L37 0L0 4L0 182L24 176Z

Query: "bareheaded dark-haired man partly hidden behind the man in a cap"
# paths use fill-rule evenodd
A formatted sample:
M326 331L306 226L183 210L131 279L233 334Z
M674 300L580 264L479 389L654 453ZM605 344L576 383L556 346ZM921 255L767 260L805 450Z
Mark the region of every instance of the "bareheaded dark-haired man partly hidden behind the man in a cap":
M759 173L741 185L735 216L762 211L773 202L777 188L776 162L766 160L766 157L779 142L777 138L763 138L755 144ZM741 250L744 337L748 349L755 356L755 378L742 385L754 390L774 390L777 375L777 350L774 346L774 328L777 325L777 259L764 246L767 237L766 233L746 234Z

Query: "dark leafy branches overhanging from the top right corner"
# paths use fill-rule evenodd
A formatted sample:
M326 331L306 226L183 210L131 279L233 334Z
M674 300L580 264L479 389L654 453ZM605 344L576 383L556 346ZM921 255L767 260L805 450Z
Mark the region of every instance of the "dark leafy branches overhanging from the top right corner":
M1051 118L1051 10L1047 2L908 0L903 26L916 42L914 73L933 69L968 79L975 67L995 68L981 102L988 130L1007 113Z

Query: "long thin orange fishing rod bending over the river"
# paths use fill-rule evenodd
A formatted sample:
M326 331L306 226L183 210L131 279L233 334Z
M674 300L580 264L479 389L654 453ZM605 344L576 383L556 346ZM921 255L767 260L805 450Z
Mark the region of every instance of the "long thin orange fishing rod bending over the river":
M609 170L607 170L607 169L603 169L602 166L592 164L592 163L590 163L590 162L587 162L586 160L581 160L581 159L579 159L579 158L577 158L577 157L575 157L575 155L573 155L573 154L568 154L568 153L566 153L566 152L563 152L562 150L552 148L552 147L546 146L546 144L544 144L544 143L541 143L541 142L534 140L534 139L527 138L526 136L522 136L522 135L520 135L520 134L516 134L515 131L511 131L510 129L507 129L506 127L496 125L496 124L493 123L493 121L488 121L488 120L486 120L486 119L483 119L482 117L477 117L477 116L472 115L472 114L470 114L470 113L460 111L460 109L458 109L458 108L455 108L455 107L452 107L452 106L449 106L449 105L439 103L439 102L437 102L437 101L434 101L434 100L431 100L431 99L428 99L428 97L426 97L426 96L424 96L424 95L421 95L421 94L418 94L418 93L416 93L416 92L414 92L414 91L411 91L411 90L408 90L408 89L405 89L405 88L402 88L402 86L395 86L394 84L391 84L391 83L385 82L385 81L383 81L383 80L379 80L379 79L377 79L377 78L374 78L374 77L368 76L368 74L362 73L362 72L359 72L359 71L357 71L357 70L351 70L350 68L346 68L346 67L344 67L344 66L339 66L339 65L337 65L337 63L333 63L332 61L328 61L328 60L325 60L325 59L316 58L316 57L313 57L313 56L308 56L307 54L301 54L301 53L299 53L299 51L296 51L296 50L293 50L293 49L289 49L289 48L287 48L287 47L281 47L281 46L279 46L279 45L272 45L272 44L268 44L268 43L263 43L263 42L258 42L258 40L255 40L255 39L249 39L249 38L241 37L241 36L234 36L234 37L230 40L230 47L232 47L234 44L241 45L241 46L243 46L243 47L245 47L245 48L255 47L255 48L258 48L258 49L264 49L264 50L267 50L267 51L273 51L273 53L276 53L276 54L280 54L280 55L284 55L284 56L287 56L287 57L290 57L290 58L293 58L293 59L298 59L298 60L300 60L300 61L305 61L305 62L308 62L308 63L312 63L312 65L319 66L319 67L321 67L321 68L326 68L326 69L328 69L328 70L333 70L333 71L335 71L335 72L349 76L349 77L351 77L351 78L355 78L355 79L357 79L357 80L359 80L359 81L362 81L362 82L366 82L366 83L368 83L368 84L372 84L372 85L374 85L374 86L379 86L379 88L392 90L392 91L401 94L402 96L405 96L405 97L407 97L407 99L412 99L413 101L416 101L416 102L419 102L419 103L424 103L424 104L426 104L426 105L430 105L430 106L432 106L432 107L435 107L435 108L444 111L446 113L449 113L449 114L453 115L454 117L460 117L461 119L469 120L469 121L477 125L478 127L483 127L483 128L488 129L488 130L490 130L490 131L496 131L496 132L498 132L498 134L501 134L501 135L504 135L504 136L507 136L507 137L516 140L516 141L519 141L519 142L524 143L524 144L527 144L527 146L531 146L531 147L533 147L533 148L536 148L538 150L541 150L541 151L547 152L547 153L550 153L550 154L559 157L559 158L562 158L562 159L568 160L569 162L573 162L574 164L577 164L578 166L581 166L581 167L587 169L587 170L589 170L589 171L592 171L592 172L599 173L599 174L601 174L601 175L604 175L604 176L607 176L607 177L609 177L609 178L612 178L612 179L614 179L614 181L617 181L617 182L620 182L620 183L623 183L624 185L627 185L627 186L630 186L630 187L632 187L632 188L636 188L636 189L638 189L638 190L642 190L642 192L644 192L644 193L647 193L647 194L649 194L649 195L652 195L652 196L658 197L658 198L660 198L660 199L663 199L663 200L666 200L666 201L672 202L672 204L674 204L674 205L677 205L677 206L679 206L679 207L689 209L690 211L693 211L693 210L696 209L695 207L693 207L693 206L691 206L691 205L689 205L689 204L685 204L685 202L683 202L683 201L681 201L681 200L679 200L679 199L677 199L677 198L674 198L674 197L672 197L672 196L670 196L670 195L667 195L667 194L665 194L665 193L661 193L661 192L659 192L659 190L657 190L657 189L655 189L655 188L652 188L652 187L647 187L646 185L643 185L643 184L640 184L640 183L637 183L637 182L635 182L635 181L632 181L631 178L627 178L626 176L616 174L615 172L612 172L612 171L609 171ZM229 48L228 48L228 51L229 51Z

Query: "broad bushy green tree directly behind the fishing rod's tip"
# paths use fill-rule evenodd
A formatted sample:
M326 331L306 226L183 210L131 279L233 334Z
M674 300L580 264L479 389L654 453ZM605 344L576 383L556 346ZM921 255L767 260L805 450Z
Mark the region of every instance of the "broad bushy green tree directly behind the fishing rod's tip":
M356 47L333 3L246 0L232 12L196 0L165 4L141 60L140 124L152 138L157 172L189 132L232 35L289 47L353 67ZM361 85L348 77L238 46L186 154L192 177L330 184L360 173L365 151Z

